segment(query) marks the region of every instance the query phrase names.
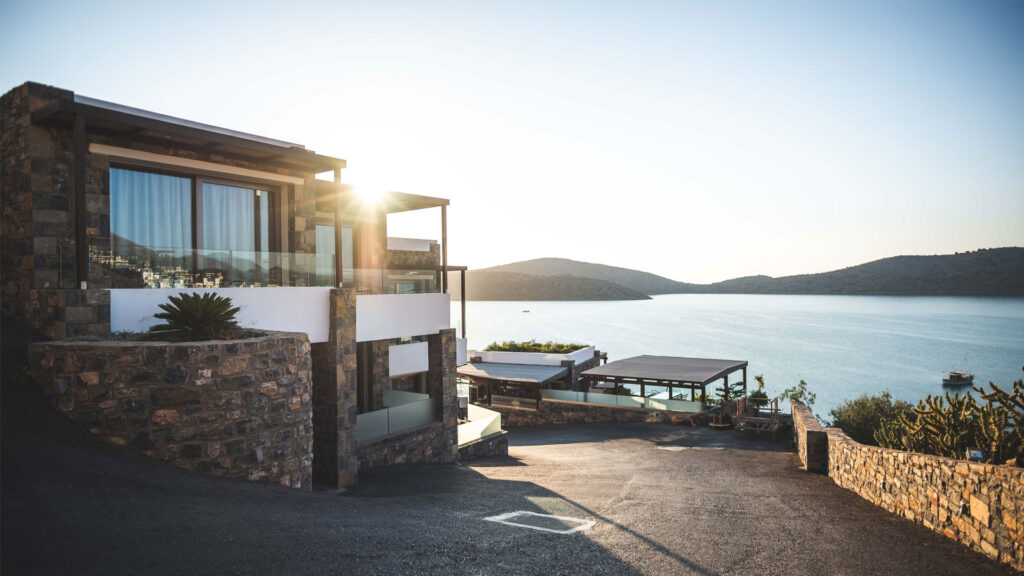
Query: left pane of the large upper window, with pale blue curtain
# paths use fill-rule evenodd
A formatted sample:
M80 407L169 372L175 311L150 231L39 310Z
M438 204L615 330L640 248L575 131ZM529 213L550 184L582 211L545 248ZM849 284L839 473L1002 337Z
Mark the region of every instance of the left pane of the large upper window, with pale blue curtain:
M111 168L111 241L99 256L112 288L145 286L158 266L185 274L191 247L191 179Z

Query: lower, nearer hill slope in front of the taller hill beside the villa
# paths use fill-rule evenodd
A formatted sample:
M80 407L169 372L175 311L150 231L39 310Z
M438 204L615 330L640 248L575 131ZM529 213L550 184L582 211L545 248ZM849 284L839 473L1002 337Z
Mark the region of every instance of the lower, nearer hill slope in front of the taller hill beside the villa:
M450 277L453 298L461 297L458 275ZM596 278L531 276L493 269L466 273L467 300L646 300L650 296Z

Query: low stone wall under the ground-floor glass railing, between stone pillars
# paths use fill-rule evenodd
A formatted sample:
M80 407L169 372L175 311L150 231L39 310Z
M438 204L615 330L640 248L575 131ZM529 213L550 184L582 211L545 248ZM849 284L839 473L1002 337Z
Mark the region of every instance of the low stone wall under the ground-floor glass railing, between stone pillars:
M435 422L407 433L359 443L359 469L394 464L453 462L455 459L450 436L443 422Z

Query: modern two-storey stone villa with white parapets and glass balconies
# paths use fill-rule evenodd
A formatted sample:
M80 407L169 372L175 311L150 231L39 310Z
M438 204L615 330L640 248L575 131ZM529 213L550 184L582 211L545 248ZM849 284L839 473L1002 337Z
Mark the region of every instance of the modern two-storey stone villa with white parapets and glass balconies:
M457 458L465 320L457 338L447 272L465 269L447 264L447 200L364 201L344 160L36 83L0 111L5 322L50 340L144 331L169 295L215 291L244 327L307 335L297 402L318 482ZM409 210L439 212L439 243L388 238L388 214ZM201 440L189 450L212 453Z

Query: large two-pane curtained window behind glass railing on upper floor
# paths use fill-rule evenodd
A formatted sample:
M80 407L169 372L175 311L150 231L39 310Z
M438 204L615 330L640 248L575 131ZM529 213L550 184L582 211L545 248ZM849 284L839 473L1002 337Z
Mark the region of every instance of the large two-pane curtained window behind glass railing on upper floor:
M281 254L278 194L111 168L111 242L99 257L110 261L112 287L316 284L311 255Z

